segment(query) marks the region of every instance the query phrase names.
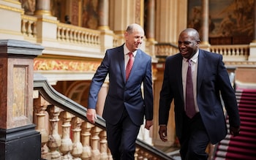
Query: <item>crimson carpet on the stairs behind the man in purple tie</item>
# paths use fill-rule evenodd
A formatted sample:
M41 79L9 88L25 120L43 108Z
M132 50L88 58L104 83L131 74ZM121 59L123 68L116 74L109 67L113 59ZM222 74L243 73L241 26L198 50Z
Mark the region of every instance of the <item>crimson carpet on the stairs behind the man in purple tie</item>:
M256 159L256 89L238 88L236 99L241 118L240 135L232 137L227 134L225 140L216 145L215 160Z

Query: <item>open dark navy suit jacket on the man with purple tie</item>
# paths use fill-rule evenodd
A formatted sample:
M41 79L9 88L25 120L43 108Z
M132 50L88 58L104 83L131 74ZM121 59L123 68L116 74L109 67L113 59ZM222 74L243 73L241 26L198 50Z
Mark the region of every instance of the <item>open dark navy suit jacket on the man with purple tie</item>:
M174 99L176 134L179 138L181 138L181 134L185 134L181 133L184 114L184 94L181 79L182 59L181 53L166 58L164 81L159 101L159 124L167 124L170 103ZM206 50L199 50L197 104L212 144L224 139L227 134L220 93L229 115L230 126L239 126L240 118L236 96L222 62L222 56Z

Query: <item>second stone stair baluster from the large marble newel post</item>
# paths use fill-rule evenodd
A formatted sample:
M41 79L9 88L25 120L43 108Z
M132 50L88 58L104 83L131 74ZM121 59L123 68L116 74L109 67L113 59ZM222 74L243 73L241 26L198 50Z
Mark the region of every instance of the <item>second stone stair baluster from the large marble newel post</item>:
M59 114L61 110L59 107L50 106L49 107L49 121L50 121L50 135L48 138L48 148L50 148L50 159L61 159L61 153L59 153L58 148L61 146L61 137L58 133L58 122Z

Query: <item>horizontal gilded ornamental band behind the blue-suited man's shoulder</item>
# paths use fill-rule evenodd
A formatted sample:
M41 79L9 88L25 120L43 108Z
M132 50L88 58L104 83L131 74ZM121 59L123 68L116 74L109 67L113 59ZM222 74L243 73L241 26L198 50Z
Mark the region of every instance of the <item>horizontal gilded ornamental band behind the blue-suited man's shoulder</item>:
M99 64L98 61L34 59L34 70L95 72Z

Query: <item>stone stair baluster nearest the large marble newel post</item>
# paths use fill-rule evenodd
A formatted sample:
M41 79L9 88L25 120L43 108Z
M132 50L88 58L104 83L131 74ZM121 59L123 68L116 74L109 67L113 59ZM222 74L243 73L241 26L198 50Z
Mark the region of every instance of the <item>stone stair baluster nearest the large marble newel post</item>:
M41 157L44 159L48 154L48 148L45 145L48 142L48 125L45 124L46 112L48 105L50 105L37 92L37 99L34 99L34 123L36 123L36 130L41 134ZM48 120L48 119L47 119Z

